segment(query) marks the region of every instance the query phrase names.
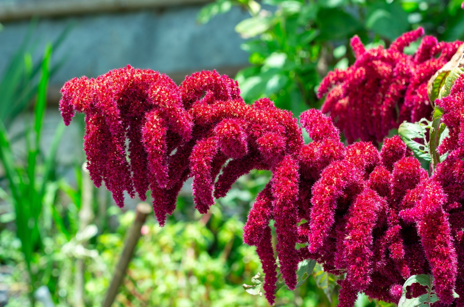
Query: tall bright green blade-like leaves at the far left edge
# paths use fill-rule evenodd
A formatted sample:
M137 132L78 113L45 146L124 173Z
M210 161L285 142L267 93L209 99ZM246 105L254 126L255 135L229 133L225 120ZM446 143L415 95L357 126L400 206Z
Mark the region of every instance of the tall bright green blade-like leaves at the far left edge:
M16 235L21 241L21 251L26 262L29 286L31 287L30 301L35 299L32 293L47 279L46 272L36 270L36 251L43 249L44 242L40 234L39 217L41 216L44 198L54 198L47 195L51 192L48 180L53 174L54 158L59 140L64 130L64 124L58 126L49 150L45 155L40 150L42 122L45 115L47 84L50 77L50 58L52 45L45 48L44 59L41 64L41 78L37 87L37 98L32 118L24 116L26 156L13 154L10 137L4 125L0 122L0 161L3 166L10 195L2 190L3 199L13 205L16 222ZM30 124L32 122L32 125ZM41 163L39 169L39 163ZM53 191L52 191L53 192ZM56 192L56 189L55 191ZM46 282L45 282L46 283Z

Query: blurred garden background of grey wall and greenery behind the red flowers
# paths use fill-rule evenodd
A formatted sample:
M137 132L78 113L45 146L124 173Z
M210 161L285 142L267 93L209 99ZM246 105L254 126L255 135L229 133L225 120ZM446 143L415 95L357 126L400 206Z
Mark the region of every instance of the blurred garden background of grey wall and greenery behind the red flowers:
M460 0L0 0L0 306L101 306L138 199L116 207L83 168L84 121L64 128L59 89L127 64L176 83L197 70L235 77L245 101L270 97L295 116L354 62L349 39L388 46L423 26L464 39ZM407 48L414 52L418 42ZM201 216L190 183L160 228L150 215L114 306L268 306L242 227L267 172L242 177ZM262 274L261 274L262 275ZM316 266L276 306L335 306ZM360 295L356 307L387 307Z

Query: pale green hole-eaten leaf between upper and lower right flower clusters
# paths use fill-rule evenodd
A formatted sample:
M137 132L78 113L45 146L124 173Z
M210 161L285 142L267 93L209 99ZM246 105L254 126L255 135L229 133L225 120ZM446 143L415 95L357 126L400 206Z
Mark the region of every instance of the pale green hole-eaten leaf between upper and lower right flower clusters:
M425 138L427 132L426 128L430 127L429 123L430 122L425 118L423 118L420 122L415 123L403 122L398 128L398 134L400 135L401 140L405 142L406 146L412 150L416 157L432 162L429 144ZM415 139L424 140L424 144L415 141Z

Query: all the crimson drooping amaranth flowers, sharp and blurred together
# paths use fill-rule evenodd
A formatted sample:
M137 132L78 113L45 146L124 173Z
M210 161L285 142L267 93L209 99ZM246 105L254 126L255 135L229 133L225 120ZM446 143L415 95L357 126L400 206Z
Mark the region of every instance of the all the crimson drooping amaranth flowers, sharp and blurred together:
M194 73L180 86L130 66L95 79L75 78L63 87L60 109L66 124L75 111L86 115L84 150L95 185L104 182L119 206L124 192L145 200L150 189L160 225L174 211L187 178L193 177L195 207L206 213L240 176L270 170L271 181L245 224L244 242L257 247L271 304L279 286L273 220L279 272L290 290L301 284L298 263L312 259L340 276L342 307L352 307L359 292L394 303L420 296L424 287L413 282L419 277L411 278L422 275L434 278L425 291L429 302L433 297L451 304L457 292L461 306L462 112L456 109L463 81L437 101L451 135L439 150L454 152L442 163L438 159L431 177L399 136L383 140L398 116L411 120L432 112L430 101L425 103L427 76L458 48L425 37L414 56L403 54L422 34L406 33L387 50L366 51L354 38L354 66L323 81L320 93L335 86L323 110L336 117L353 142L348 146L332 119L315 109L300 116L312 140L304 144L290 112L267 98L246 104L237 83L215 71ZM365 141L354 142L358 137ZM382 140L379 151L375 144Z

